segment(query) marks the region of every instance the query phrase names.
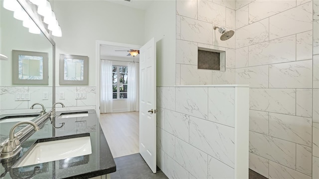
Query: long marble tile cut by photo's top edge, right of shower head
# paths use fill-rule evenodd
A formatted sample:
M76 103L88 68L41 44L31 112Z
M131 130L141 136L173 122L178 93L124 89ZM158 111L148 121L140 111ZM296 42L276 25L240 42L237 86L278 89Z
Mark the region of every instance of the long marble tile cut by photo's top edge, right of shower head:
M296 0L255 0L249 4L249 23L296 6Z

